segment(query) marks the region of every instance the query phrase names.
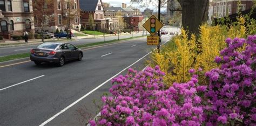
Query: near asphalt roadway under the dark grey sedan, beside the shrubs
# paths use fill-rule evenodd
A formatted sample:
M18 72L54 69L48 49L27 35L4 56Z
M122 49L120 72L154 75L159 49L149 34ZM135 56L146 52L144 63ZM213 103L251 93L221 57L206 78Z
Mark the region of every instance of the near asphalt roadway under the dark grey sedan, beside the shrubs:
M162 36L162 44L169 39ZM0 125L85 124L97 114L93 100L112 87L109 80L125 74L129 66L143 69L153 48L143 37L84 50L82 61L63 67L25 62L0 68ZM96 89L99 85L103 86Z

